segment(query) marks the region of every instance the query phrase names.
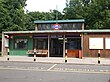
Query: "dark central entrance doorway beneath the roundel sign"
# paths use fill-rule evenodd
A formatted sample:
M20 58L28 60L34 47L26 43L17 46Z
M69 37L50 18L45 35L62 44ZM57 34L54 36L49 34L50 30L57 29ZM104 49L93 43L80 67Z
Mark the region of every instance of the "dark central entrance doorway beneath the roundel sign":
M51 38L50 57L63 57L63 39Z

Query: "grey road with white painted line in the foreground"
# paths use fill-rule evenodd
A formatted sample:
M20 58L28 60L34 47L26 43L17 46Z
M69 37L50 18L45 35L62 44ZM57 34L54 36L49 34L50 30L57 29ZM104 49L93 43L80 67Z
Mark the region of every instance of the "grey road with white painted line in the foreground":
M0 82L110 82L110 66L0 62Z

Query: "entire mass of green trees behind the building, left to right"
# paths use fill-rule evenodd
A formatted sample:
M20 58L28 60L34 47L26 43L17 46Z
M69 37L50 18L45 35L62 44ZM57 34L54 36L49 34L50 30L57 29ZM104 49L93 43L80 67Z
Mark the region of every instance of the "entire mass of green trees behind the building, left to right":
M0 0L0 33L34 29L35 20L85 19L86 29L110 29L110 0L66 0L63 13L24 13L26 0Z

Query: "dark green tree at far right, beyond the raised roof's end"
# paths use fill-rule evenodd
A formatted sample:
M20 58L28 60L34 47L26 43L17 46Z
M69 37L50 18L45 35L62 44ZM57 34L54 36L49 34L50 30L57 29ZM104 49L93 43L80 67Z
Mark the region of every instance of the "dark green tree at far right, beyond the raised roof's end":
M110 0L92 0L85 7L87 29L110 29Z

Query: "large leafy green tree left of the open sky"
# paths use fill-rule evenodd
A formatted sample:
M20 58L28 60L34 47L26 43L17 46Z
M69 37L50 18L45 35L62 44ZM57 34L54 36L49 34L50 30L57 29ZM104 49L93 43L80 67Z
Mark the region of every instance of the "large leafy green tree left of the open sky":
M0 33L27 30L23 10L25 2L26 0L0 0Z

